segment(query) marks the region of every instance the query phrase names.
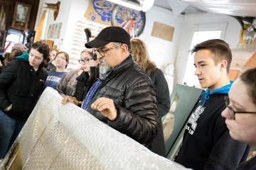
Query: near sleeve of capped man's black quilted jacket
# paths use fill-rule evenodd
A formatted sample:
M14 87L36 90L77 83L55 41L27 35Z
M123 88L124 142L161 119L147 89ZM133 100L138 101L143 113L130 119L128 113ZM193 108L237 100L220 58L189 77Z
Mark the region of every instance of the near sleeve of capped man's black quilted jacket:
M133 82L127 85L124 106L116 106L117 118L108 125L150 147L159 128L156 92L149 79L137 77Z

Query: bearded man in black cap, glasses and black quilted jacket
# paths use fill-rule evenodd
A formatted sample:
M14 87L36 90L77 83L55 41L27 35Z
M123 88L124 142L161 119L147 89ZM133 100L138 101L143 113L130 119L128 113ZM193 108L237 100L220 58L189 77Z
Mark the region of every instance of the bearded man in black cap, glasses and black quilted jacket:
M97 53L100 79L87 92L82 108L150 148L159 128L156 92L146 72L129 55L129 34L110 26L85 47Z

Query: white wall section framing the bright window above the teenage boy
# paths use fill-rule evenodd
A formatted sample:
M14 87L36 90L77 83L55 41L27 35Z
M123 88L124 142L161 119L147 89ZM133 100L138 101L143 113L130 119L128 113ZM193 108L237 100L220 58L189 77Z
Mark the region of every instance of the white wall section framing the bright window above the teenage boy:
M227 23L224 39L230 47L236 47L239 42L239 33L241 26L235 18L215 13L193 14L186 15L183 28L181 30L180 42L178 46L178 54L175 63L175 80L174 84L179 84L183 81L186 71L186 63L188 61L188 50L190 50L193 38L193 28L201 24L216 24Z

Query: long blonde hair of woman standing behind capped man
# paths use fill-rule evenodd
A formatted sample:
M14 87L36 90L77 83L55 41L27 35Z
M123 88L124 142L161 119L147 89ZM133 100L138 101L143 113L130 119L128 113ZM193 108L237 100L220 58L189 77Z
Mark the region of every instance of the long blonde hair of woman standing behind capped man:
M139 38L131 39L131 53L134 57L134 62L137 62L149 76L154 74L156 64L150 60L149 52L143 40Z

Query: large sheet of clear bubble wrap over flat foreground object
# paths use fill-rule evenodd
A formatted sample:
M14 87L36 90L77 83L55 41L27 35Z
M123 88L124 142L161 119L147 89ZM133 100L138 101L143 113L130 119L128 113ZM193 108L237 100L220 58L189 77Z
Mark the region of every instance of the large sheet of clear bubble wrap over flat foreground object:
M18 135L23 169L185 169L61 99L48 87Z

